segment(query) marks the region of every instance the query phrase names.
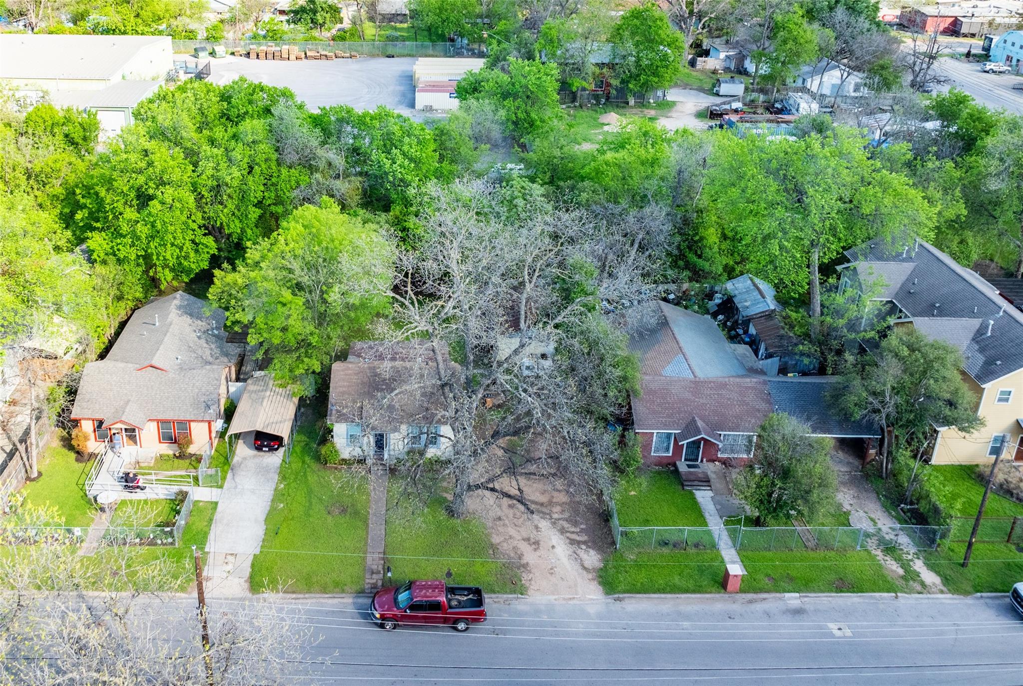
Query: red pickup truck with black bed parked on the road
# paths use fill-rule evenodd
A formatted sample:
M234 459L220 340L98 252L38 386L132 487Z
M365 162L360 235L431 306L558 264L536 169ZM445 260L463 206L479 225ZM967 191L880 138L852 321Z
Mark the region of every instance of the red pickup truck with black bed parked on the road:
M487 621L483 590L476 586L448 586L442 581L410 581L376 592L369 602L369 616L381 629L398 625L450 625L465 631Z

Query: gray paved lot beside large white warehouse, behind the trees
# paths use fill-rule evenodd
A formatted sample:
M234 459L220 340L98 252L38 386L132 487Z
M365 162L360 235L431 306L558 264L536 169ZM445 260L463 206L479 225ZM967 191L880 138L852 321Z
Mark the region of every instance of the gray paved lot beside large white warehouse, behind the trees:
M310 109L335 104L373 109L383 104L402 115L422 119L422 112L414 109L414 57L292 62L231 56L210 61L213 83L226 84L246 77L270 86L284 86Z

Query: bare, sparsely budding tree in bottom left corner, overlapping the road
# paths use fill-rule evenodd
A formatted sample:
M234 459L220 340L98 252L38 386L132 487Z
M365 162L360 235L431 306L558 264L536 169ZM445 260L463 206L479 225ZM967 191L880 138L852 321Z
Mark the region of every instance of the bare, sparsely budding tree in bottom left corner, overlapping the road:
M48 529L58 523L55 514L19 507L0 520L0 544L8 546L0 557L9 590L0 598L4 683L294 683L294 664L315 643L301 613L272 601L214 605L211 681L194 606L164 595L187 585L190 560L108 541L95 555L80 555L68 530Z

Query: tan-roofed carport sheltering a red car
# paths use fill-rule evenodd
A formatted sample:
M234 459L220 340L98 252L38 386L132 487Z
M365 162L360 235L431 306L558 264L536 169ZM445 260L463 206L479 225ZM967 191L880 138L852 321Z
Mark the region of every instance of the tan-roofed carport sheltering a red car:
M249 431L266 431L279 436L284 444L284 461L292 454L295 438L295 412L299 399L292 390L274 385L273 374L257 373L246 381L238 407L227 429L227 455L232 459L239 437Z

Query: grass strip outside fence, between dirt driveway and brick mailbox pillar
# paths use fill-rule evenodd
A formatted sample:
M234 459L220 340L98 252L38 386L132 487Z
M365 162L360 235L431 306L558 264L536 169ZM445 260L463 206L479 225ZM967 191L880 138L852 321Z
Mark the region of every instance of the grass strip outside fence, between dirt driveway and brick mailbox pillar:
M615 552L597 579L604 592L720 593L724 560L716 550Z

